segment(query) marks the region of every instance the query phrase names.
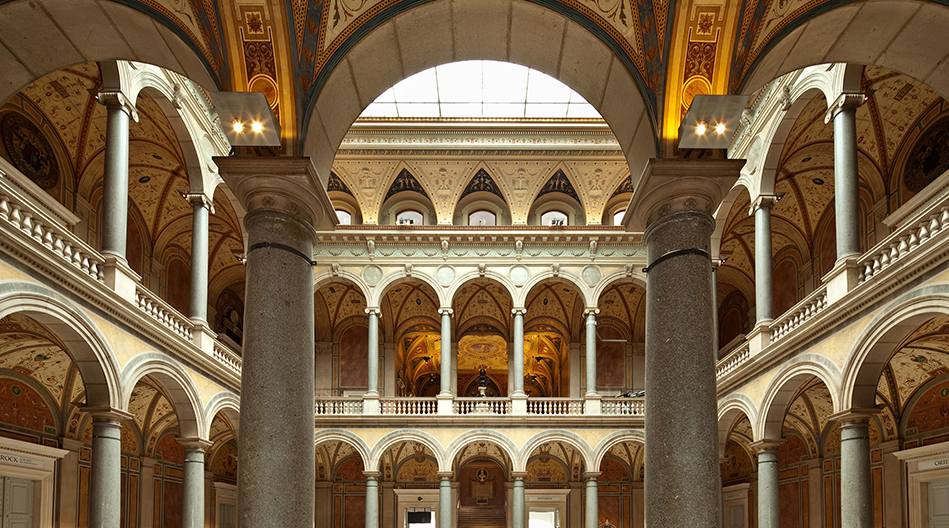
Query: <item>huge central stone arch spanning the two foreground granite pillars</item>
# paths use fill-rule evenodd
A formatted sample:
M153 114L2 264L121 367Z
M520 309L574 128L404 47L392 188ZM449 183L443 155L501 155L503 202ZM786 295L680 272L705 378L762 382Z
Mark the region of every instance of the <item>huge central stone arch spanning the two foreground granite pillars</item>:
M654 109L642 95L646 83L630 73L635 68L614 53L619 48L609 37L574 21L582 15L572 7L555 11L538 4L434 0L370 21L364 37L351 38L330 59L316 79L318 96L304 110L302 148L317 173L329 178L336 149L356 117L396 82L439 64L491 59L544 72L585 97L611 125L638 174L658 152Z

